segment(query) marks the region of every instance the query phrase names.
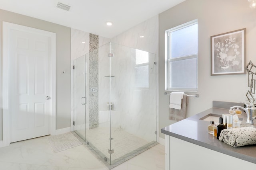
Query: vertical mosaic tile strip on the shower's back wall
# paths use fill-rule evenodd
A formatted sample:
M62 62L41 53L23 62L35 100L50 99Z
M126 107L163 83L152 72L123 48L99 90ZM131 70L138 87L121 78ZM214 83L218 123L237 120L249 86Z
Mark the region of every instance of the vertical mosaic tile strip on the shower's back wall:
M98 47L99 36L91 34L89 45L89 129L98 127L99 123L99 103L98 103Z

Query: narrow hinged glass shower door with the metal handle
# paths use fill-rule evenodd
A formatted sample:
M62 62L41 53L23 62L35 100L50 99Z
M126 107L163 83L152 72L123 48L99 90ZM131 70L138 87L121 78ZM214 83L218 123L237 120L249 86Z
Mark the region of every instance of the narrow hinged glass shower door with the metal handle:
M85 138L85 55L74 60L74 131Z

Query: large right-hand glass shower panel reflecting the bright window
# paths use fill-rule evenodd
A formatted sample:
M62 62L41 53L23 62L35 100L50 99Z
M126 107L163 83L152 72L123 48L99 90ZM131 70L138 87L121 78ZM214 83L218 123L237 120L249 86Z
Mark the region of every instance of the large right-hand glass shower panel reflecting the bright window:
M111 162L156 144L156 55L110 43Z

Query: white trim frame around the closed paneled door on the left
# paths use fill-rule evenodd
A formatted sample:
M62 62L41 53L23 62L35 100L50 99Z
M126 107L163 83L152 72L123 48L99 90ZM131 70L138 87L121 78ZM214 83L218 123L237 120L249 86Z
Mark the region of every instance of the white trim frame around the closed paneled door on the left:
M2 51L2 131L3 139L0 141L0 147L10 145L10 112L9 112L9 61L10 56L10 30L25 31L29 33L39 34L50 38L50 80L51 80L51 107L52 115L50 116L50 134L56 134L56 33L26 27L14 23L3 21L3 51Z

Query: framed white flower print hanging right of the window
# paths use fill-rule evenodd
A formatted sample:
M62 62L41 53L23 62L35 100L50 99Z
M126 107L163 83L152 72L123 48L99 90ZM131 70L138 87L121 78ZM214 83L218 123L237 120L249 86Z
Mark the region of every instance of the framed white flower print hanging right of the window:
M211 76L246 74L246 28L211 36Z

